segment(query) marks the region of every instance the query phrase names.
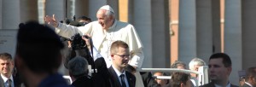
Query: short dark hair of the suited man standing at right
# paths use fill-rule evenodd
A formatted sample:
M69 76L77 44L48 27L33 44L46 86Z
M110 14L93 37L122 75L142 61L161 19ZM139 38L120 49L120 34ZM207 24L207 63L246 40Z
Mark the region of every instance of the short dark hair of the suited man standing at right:
M231 62L230 56L225 54L225 53L215 53L215 54L212 54L210 56L209 61L212 60L212 59L218 59L218 58L223 59L222 63L224 64L224 67L231 67L232 66L232 62Z

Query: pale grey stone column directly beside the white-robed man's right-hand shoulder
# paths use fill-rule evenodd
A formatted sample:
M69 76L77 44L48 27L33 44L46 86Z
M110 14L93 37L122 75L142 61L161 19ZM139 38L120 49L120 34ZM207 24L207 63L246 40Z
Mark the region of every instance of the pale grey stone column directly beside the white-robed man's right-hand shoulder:
M150 0L131 0L131 2L129 0L128 19L129 22L133 26L135 26L138 36L141 38L141 41L143 43L143 53L145 56L143 61L143 67L153 67L153 28L151 14L152 12ZM160 56L158 58L160 58Z

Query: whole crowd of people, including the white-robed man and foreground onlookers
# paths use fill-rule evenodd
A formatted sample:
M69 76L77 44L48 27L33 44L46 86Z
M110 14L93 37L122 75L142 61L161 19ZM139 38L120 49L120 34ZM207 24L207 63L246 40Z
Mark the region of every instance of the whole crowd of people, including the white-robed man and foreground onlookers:
M15 57L0 53L1 87L197 87L198 75L193 73L151 73L138 72L143 64L143 44L136 29L129 23L115 19L109 5L102 6L96 13L96 21L86 21L84 26L61 23L55 15L46 16L49 26L30 21L20 24L17 34ZM82 19L81 18L81 19ZM82 22L82 21L80 21ZM79 33L87 51L70 51L64 55L63 38L72 38ZM86 46L85 46L86 45ZM83 53L85 55L79 54ZM64 61L72 84L58 73ZM230 83L232 72L230 56L215 53L209 57L208 64L200 58L189 62L189 70L198 71L208 66L208 84L200 87L238 87ZM89 75L89 65L94 73ZM183 61L175 61L171 68L187 69ZM171 76L159 79L154 76ZM241 87L256 87L256 67L246 71Z

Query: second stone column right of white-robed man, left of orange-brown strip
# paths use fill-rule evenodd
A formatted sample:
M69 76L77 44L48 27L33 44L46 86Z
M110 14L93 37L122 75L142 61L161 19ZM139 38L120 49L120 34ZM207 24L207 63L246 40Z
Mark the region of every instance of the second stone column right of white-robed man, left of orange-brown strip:
M153 67L170 66L170 31L169 31L169 3L168 0L151 1L152 20L152 63ZM149 30L144 30L149 31ZM149 36L148 36L149 37ZM144 43L148 44L148 43ZM146 48L145 48L146 49ZM145 53L147 54L147 53ZM148 61L147 59L144 61Z

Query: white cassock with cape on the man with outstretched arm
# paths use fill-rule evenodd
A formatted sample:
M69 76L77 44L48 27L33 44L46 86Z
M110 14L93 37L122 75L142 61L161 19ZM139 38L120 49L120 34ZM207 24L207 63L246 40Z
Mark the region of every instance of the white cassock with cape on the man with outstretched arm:
M113 26L106 31L102 29L98 21L79 27L59 23L58 27L55 28L55 32L65 38L71 38L76 33L80 33L80 35L89 34L94 46L104 57L108 67L112 64L110 56L111 44L116 40L124 41L129 45L131 52L129 64L138 68L142 67L144 59L143 44L131 24L115 20Z

